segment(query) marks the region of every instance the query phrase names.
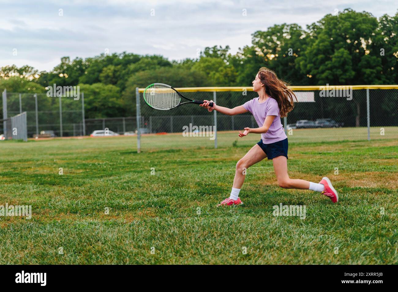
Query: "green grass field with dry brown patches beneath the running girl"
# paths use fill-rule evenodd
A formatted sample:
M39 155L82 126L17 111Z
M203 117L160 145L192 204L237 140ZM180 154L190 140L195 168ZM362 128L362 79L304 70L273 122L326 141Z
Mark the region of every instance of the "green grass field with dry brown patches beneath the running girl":
M140 154L136 137L2 141L0 205L32 205L32 219L0 217L0 264L397 264L398 139L308 142L305 131L289 136L289 175L328 176L338 204L279 188L262 161L245 205L215 207L259 135L219 133L218 149L148 135ZM305 205L306 218L274 217L280 203Z

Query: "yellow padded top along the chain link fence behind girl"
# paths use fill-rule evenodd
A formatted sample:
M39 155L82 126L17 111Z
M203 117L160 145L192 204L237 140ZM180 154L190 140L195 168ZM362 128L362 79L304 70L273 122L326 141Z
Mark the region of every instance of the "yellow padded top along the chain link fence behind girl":
M288 86L293 91L313 91L322 89L347 89L347 87L353 90L359 89L398 89L398 85L314 85L314 86ZM234 87L179 87L176 88L179 92L220 92L220 91L253 91L253 87L248 86L234 86ZM145 88L140 88L139 92L144 92Z

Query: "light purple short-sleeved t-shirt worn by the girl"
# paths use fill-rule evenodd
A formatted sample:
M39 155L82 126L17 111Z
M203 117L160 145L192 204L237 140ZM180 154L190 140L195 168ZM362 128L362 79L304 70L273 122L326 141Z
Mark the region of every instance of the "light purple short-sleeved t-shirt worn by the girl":
M262 127L266 116L276 116L267 133L261 134L264 144L275 143L287 138L285 130L281 123L281 115L279 114L278 102L272 97L266 101L259 103L259 97L256 97L243 104L243 107L252 113L259 127Z

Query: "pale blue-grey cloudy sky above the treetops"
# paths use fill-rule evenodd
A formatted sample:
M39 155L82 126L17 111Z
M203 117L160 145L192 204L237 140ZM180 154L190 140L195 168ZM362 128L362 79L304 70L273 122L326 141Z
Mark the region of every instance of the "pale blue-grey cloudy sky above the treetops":
M206 46L251 43L280 23L307 24L352 8L395 15L396 0L0 0L0 67L51 70L62 56L109 50L196 58ZM336 10L337 9L337 10ZM246 16L244 15L246 11Z

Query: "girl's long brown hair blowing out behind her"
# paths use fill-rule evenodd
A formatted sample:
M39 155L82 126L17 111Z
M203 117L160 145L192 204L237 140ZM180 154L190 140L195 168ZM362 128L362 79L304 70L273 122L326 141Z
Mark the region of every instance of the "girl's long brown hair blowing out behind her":
M265 93L278 102L281 118L287 116L287 113L291 112L295 106L293 96L297 101L296 95L291 89L287 88L287 84L281 81L275 72L268 68L261 67L258 71L258 77L261 83L265 85Z

